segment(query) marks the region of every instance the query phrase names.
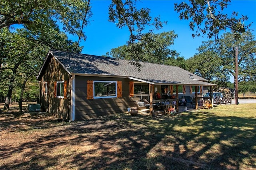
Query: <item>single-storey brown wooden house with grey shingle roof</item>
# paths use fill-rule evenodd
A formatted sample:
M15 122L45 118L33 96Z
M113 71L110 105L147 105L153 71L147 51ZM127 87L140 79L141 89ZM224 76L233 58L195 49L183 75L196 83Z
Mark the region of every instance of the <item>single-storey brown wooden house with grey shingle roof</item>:
M42 109L74 121L127 111L142 98L149 101L150 86L154 100L200 96L215 86L177 66L142 63L139 72L129 62L50 50L37 76Z

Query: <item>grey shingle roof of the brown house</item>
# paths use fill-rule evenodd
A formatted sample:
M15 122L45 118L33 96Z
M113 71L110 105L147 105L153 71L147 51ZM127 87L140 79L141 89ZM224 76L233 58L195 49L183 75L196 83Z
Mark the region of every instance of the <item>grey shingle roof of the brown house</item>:
M59 61L62 66L64 66L69 74L125 76L152 82L154 84L190 84L204 86L215 85L205 82L207 81L206 79L188 72L178 66L141 63L143 67L139 72L137 68L129 63L129 60L114 59L80 53L68 53L56 50L51 50L50 53L52 53L57 61ZM45 61L42 68L46 63L47 62ZM40 74L42 74L41 71L39 72L38 77L40 77Z

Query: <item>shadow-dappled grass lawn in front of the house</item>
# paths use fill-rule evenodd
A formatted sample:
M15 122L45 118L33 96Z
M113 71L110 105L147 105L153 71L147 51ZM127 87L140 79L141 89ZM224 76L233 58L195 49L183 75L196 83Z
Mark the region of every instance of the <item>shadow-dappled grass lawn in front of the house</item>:
M58 122L1 111L1 170L256 169L256 104Z

